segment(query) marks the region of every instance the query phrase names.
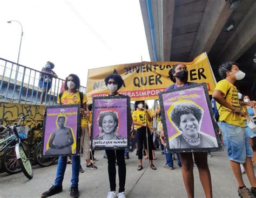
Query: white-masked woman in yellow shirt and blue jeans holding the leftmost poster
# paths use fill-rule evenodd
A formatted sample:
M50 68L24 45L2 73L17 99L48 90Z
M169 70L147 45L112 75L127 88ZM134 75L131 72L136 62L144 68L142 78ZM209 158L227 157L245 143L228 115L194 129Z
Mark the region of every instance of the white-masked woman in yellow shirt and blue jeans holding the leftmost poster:
M65 80L65 91L58 96L59 104L83 104L80 108L80 115L86 116L86 95L79 92L80 79L76 74L70 74ZM83 98L82 98L83 97ZM82 101L81 101L82 100ZM71 187L69 189L71 197L77 197L78 181L79 181L79 167L80 167L80 155L72 155L72 176ZM56 179L53 186L44 192L41 197L48 197L62 192L62 182L66 170L67 156L59 156Z

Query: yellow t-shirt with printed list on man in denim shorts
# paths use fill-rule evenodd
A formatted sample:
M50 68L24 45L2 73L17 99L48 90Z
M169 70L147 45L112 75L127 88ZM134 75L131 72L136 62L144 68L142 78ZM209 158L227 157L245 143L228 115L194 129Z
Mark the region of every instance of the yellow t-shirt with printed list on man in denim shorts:
M230 89L228 91L228 89ZM238 90L237 87L235 87L233 84L228 82L227 80L221 80L217 83L214 90L219 90L224 94L224 97L226 97L226 101L230 103L233 107L241 109L241 106L239 104L238 100ZM227 94L228 91L228 94ZM226 96L227 94L227 96ZM220 104L217 104L217 108L219 109ZM219 121L224 121L228 124L236 125L245 127L244 124L244 118L242 116L239 116L237 113L230 112L230 109L223 107L221 105L219 109Z

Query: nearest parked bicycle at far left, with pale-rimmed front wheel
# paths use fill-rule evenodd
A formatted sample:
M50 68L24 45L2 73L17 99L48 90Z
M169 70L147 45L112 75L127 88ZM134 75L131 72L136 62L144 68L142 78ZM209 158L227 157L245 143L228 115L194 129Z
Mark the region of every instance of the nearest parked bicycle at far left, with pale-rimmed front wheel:
M22 139L26 139L28 136L28 129L20 125L21 121L28 116L29 114L22 116L18 124L13 126L6 127L0 125L1 128L6 129L5 135L2 135L2 139L0 139L0 152L5 150L2 157L2 166L6 172L8 172L8 168L6 167L13 168L15 173L19 172L20 168L27 178L32 179L33 169L29 159L29 148L25 144L22 144ZM10 156L14 158L10 158ZM12 163L12 166L9 166L10 163ZM19 168L17 168L18 166Z

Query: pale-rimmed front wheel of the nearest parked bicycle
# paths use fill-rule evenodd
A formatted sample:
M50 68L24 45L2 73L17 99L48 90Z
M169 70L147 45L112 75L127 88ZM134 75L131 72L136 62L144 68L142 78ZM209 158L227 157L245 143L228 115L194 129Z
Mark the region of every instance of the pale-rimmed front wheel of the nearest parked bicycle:
M19 166L22 169L22 172L24 175L32 179L33 178L33 169L32 169L32 164L29 160L28 154L24 152L23 145L19 145L19 154L21 155L21 158L18 159Z

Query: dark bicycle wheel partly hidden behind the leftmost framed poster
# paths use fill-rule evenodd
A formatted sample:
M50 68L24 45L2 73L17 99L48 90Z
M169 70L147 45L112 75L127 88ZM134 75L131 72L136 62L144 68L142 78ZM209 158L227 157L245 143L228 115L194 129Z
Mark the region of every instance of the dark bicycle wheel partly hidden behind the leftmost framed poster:
M42 143L38 143L36 145L34 151L35 161L41 167L51 166L55 162L57 157L41 157L41 145Z

